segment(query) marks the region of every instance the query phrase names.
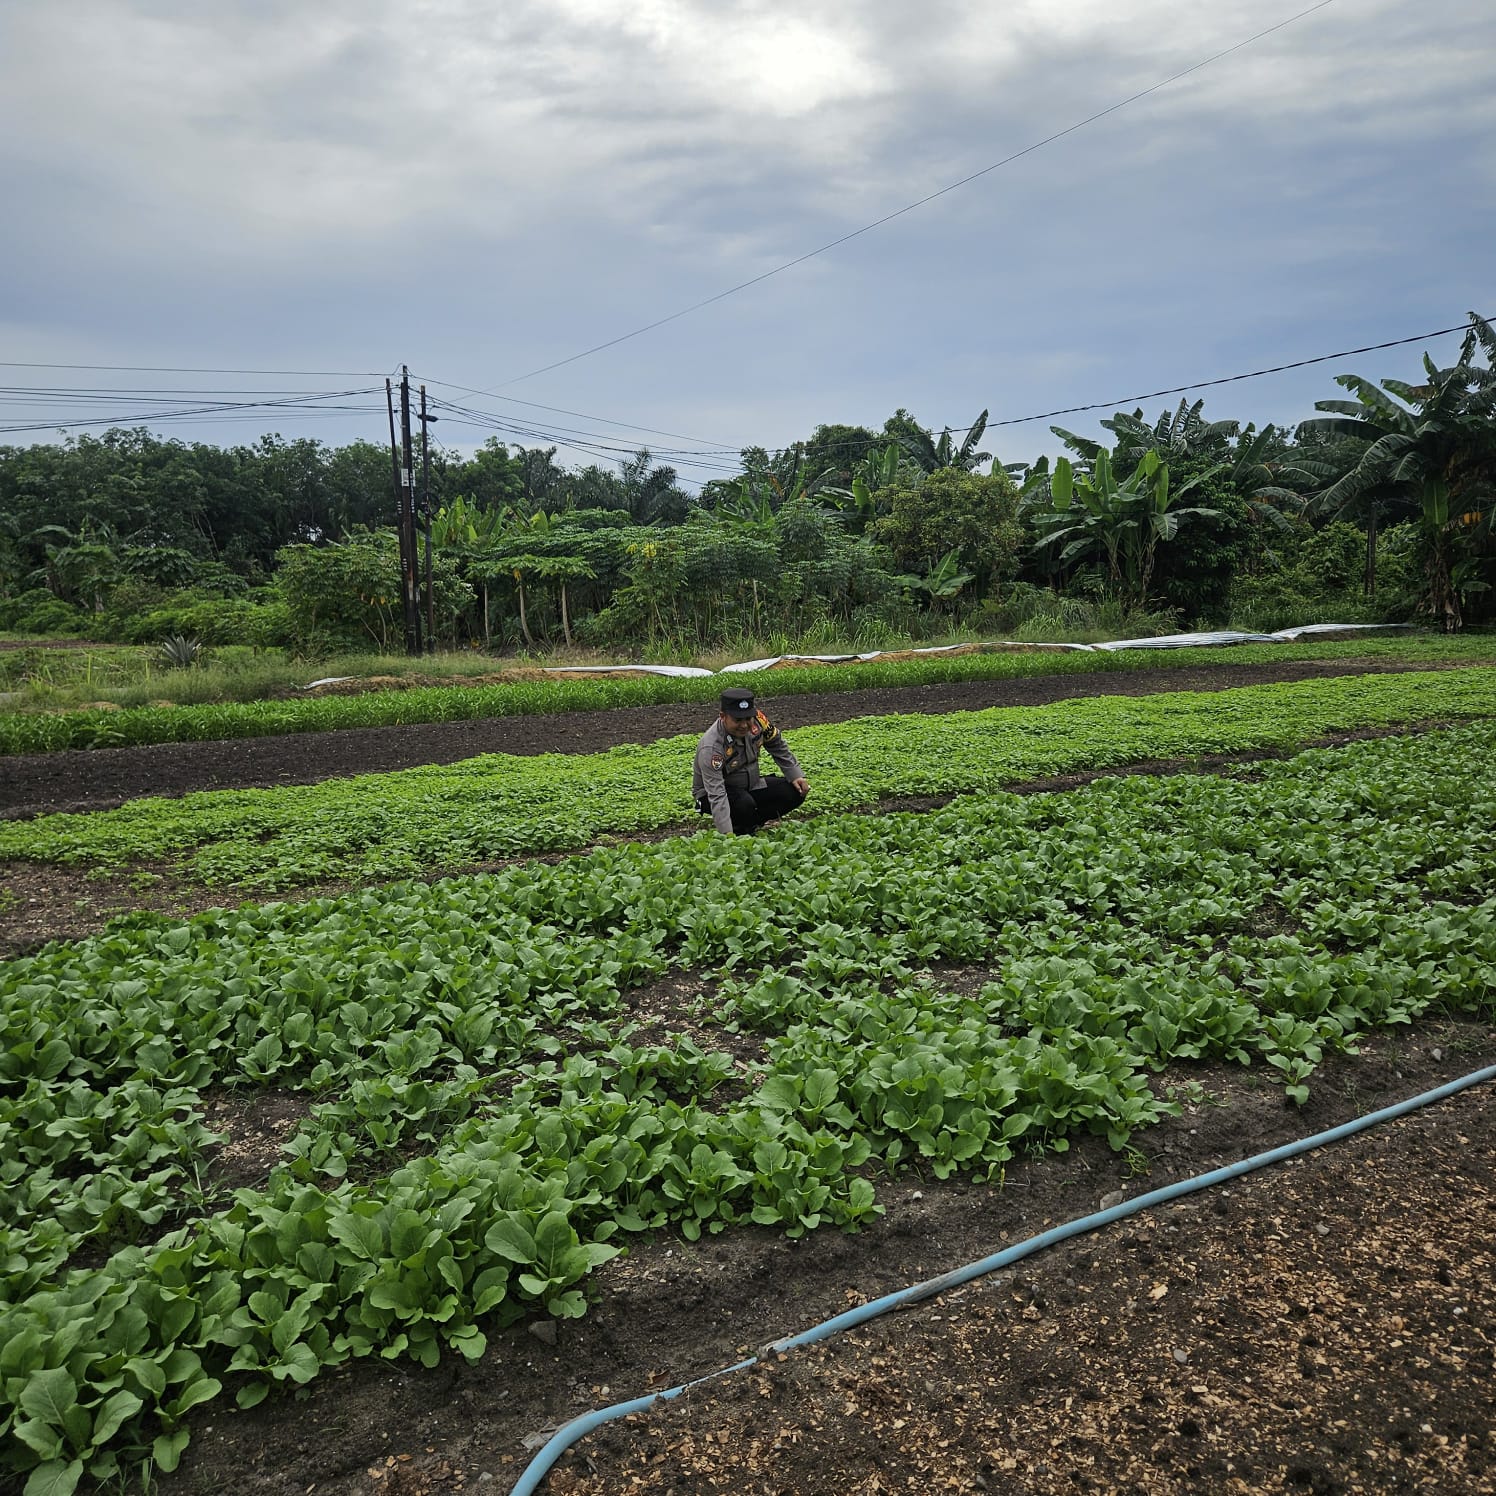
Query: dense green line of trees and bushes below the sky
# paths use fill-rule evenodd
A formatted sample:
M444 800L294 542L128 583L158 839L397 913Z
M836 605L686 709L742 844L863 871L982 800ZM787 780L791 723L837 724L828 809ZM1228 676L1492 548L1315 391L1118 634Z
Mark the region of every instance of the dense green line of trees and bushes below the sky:
M981 450L907 410L821 425L691 494L640 450L567 468L554 447L432 446L440 643L688 649L767 637L877 643L1038 615L1182 624L1489 621L1496 582L1496 335L1417 381L1337 383L1294 429L1180 401L1052 431L1065 455ZM0 628L305 654L398 646L389 450L239 447L117 429L0 447ZM1110 610L1110 612L1107 612Z

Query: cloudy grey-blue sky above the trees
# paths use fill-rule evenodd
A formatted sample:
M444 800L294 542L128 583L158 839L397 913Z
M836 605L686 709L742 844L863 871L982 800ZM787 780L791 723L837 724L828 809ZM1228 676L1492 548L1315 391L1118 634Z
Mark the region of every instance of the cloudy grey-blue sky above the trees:
M1496 4L1331 0L806 263L519 378L1299 9L0 0L0 358L359 375L0 381L341 390L405 362L586 417L432 383L503 420L775 447L901 405L935 429L984 407L998 422L1496 314ZM1445 359L1456 346L1432 344ZM1206 392L1206 414L1291 423L1340 393L1336 373L1409 375L1418 352ZM48 396L0 423L178 405ZM160 429L386 435L381 408ZM1004 461L1055 447L1046 422L984 444Z

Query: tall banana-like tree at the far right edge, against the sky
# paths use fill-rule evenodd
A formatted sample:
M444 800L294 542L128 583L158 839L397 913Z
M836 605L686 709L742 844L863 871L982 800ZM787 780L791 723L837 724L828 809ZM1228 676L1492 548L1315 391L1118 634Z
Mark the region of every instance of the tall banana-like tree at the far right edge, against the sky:
M1477 313L1469 317L1450 368L1438 368L1426 353L1423 384L1388 378L1378 387L1360 374L1340 374L1336 383L1355 399L1315 401L1315 410L1331 419L1300 426L1309 435L1366 443L1354 464L1315 495L1315 507L1339 513L1369 498L1373 527L1378 504L1414 509L1429 548L1423 610L1451 633L1463 624L1454 552L1462 531L1489 530L1496 491L1496 334ZM1477 349L1486 368L1474 364ZM1369 549L1373 545L1375 528ZM1369 560L1369 573L1370 565Z

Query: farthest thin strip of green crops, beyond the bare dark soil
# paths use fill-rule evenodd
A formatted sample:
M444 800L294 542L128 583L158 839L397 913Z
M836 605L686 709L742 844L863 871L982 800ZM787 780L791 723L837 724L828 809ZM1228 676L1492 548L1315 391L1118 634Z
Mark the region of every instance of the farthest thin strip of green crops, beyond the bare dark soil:
M775 697L823 691L893 690L956 681L1008 681L1094 670L1189 669L1276 664L1299 660L1408 663L1489 661L1496 645L1481 636L1394 636L1325 643L1242 645L1219 649L1046 651L1041 654L926 655L916 660L805 666L755 676ZM583 676L497 685L431 685L304 700L214 702L193 706L88 708L70 712L0 712L0 755L72 748L269 738L335 729L402 727L419 723L607 711L666 702L715 702L723 682L708 676Z

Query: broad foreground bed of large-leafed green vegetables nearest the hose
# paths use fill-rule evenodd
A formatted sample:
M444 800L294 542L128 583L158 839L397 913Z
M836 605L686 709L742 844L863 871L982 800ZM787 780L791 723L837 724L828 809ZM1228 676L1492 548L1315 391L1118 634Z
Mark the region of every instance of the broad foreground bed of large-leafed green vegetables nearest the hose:
M1367 1029L1492 1014L1493 751L1468 723L136 916L9 962L3 1460L27 1496L172 1468L226 1387L582 1313L636 1233L851 1228L889 1171L1125 1147L1179 1061L1264 1064L1302 1101ZM700 977L694 1041L630 1019L666 972ZM223 1088L307 1097L257 1188L215 1182Z

